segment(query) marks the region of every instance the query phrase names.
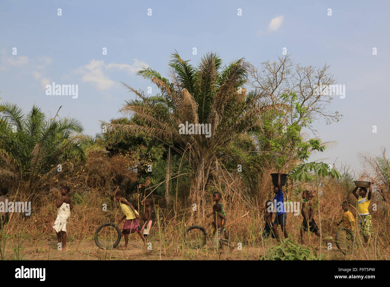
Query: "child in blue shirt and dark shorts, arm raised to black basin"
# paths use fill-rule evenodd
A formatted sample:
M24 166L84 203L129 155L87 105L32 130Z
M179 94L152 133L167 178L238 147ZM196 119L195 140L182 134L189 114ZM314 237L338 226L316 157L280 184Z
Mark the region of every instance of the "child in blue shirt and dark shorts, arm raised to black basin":
M273 186L273 192L275 193L273 202L277 213L276 213L275 220L273 221L272 230L278 242L281 242L279 239L278 225L280 225L280 228L282 228L284 238L289 237L286 229L287 213L284 208L284 194L282 191L282 187L280 186L280 175L282 175L282 173L278 173L278 185Z

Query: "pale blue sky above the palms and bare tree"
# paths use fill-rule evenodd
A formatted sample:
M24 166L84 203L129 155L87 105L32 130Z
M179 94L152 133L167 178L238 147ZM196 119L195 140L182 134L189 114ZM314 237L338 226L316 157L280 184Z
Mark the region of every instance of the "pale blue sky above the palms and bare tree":
M0 97L25 112L34 103L51 114L62 105L60 116L79 119L87 134L95 134L99 120L121 116L118 109L133 97L120 82L145 91L152 86L154 93L155 87L135 71L147 65L165 75L174 50L194 64L213 51L225 62L245 57L259 66L276 60L286 47L302 65L329 64L337 83L346 85L346 97L335 96L329 106L344 114L341 121L314 124L323 141L338 144L311 159L337 159L358 169L358 152L390 149L390 4L297 3L0 1ZM282 20L271 22L275 18ZM14 47L17 55L12 55ZM45 85L51 82L78 84L78 98L47 96Z

